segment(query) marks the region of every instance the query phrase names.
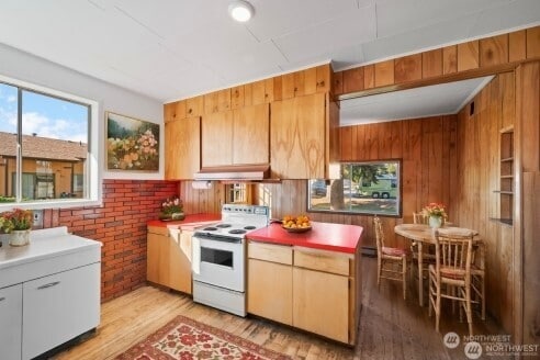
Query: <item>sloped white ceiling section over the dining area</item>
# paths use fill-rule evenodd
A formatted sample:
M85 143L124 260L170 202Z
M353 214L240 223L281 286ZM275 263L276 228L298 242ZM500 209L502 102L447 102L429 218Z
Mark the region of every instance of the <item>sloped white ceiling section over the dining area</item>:
M342 100L341 126L455 114L492 76Z

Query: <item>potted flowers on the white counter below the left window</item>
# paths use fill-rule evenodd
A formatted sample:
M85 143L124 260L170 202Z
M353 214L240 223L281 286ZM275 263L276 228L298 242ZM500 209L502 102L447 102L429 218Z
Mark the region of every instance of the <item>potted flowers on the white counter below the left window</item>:
M30 230L34 224L32 210L13 209L0 214L0 228L10 234L11 246L24 246L30 244Z

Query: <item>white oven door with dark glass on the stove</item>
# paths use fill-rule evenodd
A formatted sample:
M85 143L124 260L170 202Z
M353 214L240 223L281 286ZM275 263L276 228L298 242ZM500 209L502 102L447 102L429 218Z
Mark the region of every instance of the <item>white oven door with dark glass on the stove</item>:
M244 292L244 241L192 238L193 281Z

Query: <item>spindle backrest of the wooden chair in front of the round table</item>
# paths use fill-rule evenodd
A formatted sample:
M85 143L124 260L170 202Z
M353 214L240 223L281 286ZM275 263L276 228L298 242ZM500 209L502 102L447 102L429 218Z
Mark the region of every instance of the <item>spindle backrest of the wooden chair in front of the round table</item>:
M473 233L452 234L451 232L435 232L436 270L462 271L464 280L470 281Z

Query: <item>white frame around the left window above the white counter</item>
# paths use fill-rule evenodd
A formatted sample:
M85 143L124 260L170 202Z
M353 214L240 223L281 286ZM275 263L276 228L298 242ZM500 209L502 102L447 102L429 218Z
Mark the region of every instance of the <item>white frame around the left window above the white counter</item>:
M100 104L95 100L74 95L55 89L46 88L35 83L22 81L19 79L9 78L0 75L0 81L10 86L22 88L24 90L35 91L43 93L44 95L50 95L55 98L60 98L67 101L74 101L88 105L90 108L90 119L88 126L88 156L86 164L86 172L88 182L87 187L87 198L83 199L53 199L53 200L40 200L40 201L24 201L24 202L10 202L0 203L0 212L11 210L13 207L21 209L67 209L67 207L81 207L81 206L100 206L102 205L102 190L101 190L101 179L102 171L99 167L98 159L100 158L100 142L99 142L99 114ZM20 161L21 158L18 159ZM20 170L20 167L18 169ZM18 176L20 178L20 176Z

